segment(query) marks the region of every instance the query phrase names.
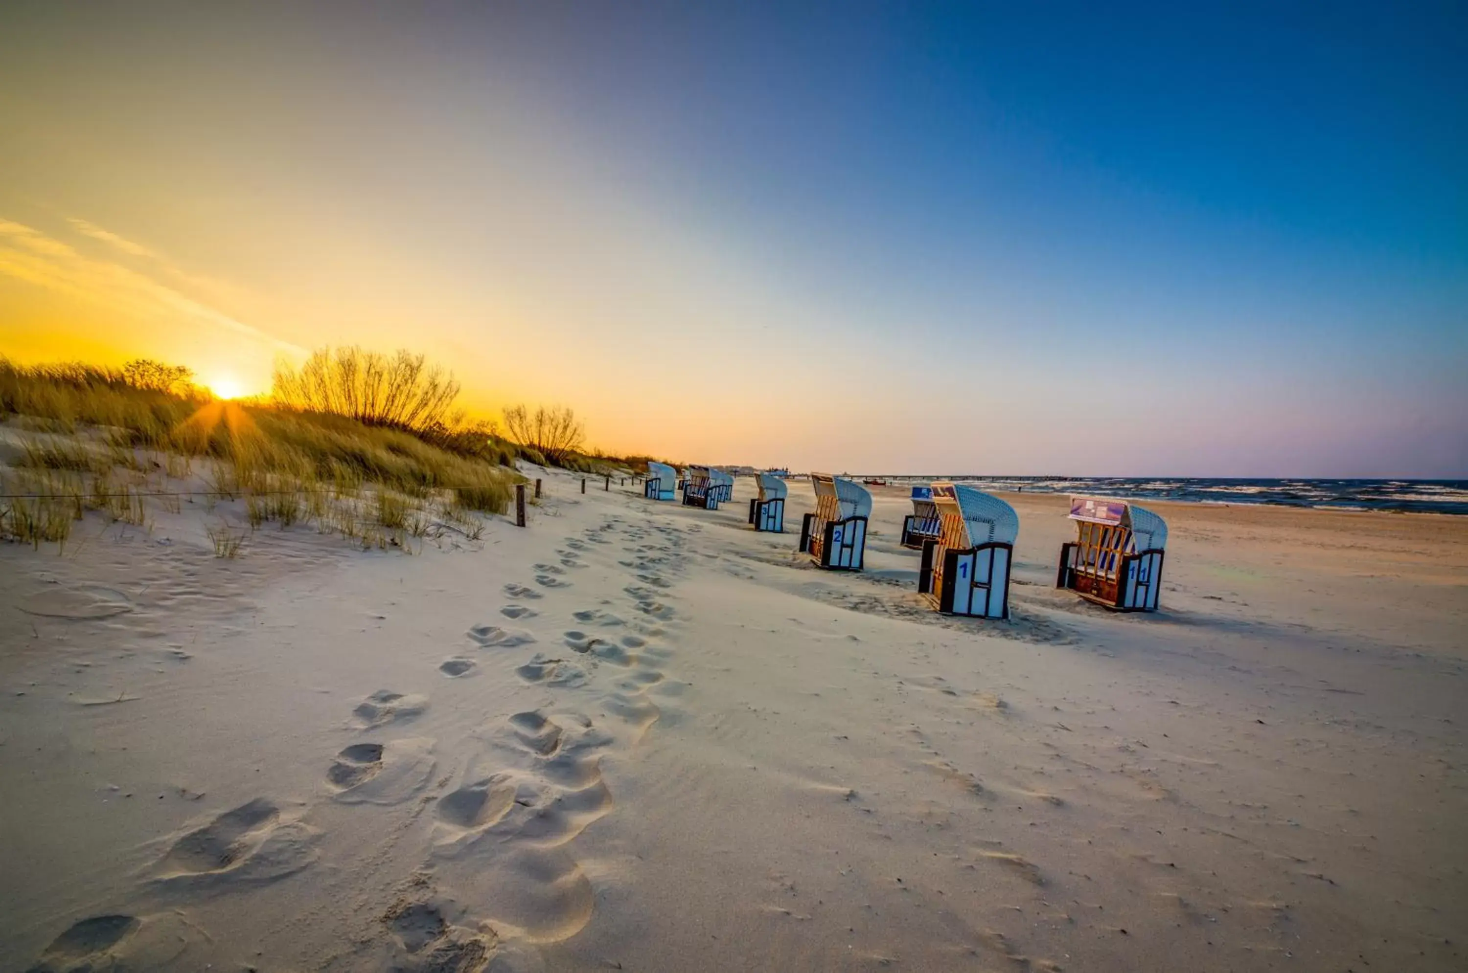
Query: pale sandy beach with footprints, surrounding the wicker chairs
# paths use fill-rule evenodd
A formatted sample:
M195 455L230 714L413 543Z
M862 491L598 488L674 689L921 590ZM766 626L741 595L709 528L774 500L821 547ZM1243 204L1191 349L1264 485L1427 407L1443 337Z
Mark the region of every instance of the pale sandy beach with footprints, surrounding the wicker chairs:
M1158 503L1114 615L1011 495L982 622L906 490L837 574L804 480L533 475L413 555L0 547L0 970L1468 969L1468 518Z

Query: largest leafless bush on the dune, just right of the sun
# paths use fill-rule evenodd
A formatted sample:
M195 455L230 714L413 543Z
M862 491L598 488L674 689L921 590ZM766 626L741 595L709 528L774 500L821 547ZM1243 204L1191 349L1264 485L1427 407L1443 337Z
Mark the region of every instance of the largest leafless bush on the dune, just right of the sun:
M302 412L349 415L364 426L408 431L449 429L459 385L423 355L383 355L363 348L319 348L299 368L279 361L270 395Z

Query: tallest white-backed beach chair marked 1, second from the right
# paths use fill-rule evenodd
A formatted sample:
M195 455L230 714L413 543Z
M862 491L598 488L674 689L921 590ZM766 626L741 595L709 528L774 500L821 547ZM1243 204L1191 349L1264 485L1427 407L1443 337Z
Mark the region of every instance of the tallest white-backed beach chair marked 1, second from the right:
M918 590L944 615L1009 618L1009 575L1019 537L1014 508L975 487L934 483L938 537L922 546Z

